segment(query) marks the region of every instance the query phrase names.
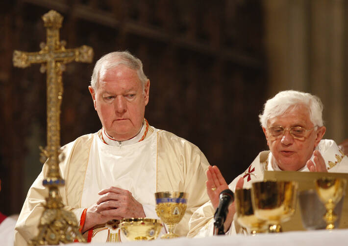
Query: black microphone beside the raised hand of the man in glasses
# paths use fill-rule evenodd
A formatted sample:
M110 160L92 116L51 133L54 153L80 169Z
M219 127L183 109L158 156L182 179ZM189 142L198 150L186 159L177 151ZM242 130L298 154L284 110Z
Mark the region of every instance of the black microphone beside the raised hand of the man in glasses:
M219 197L219 206L214 214L214 235L224 234L224 222L228 213L228 206L234 201L234 195L230 189L223 190Z

